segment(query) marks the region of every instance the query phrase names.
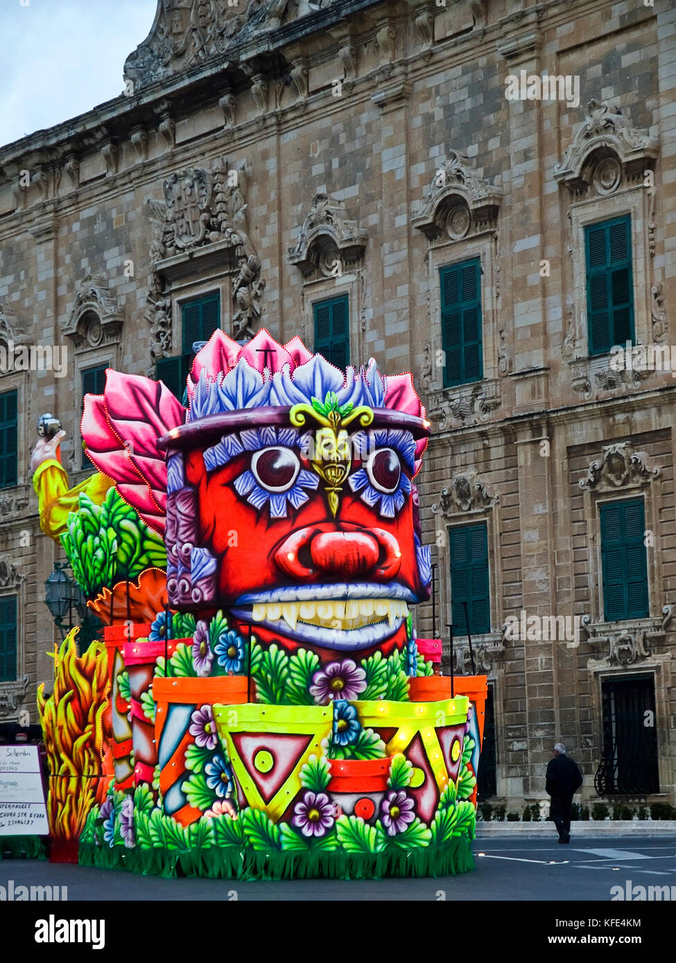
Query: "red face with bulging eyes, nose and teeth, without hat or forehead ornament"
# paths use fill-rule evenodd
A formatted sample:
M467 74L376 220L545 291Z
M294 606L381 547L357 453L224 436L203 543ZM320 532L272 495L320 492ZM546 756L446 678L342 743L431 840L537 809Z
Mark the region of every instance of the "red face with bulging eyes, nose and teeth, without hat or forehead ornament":
M394 448L352 461L335 517L330 483L299 448L243 452L211 472L193 451L185 481L198 491L198 543L217 560L217 604L240 624L343 651L402 635L425 586L410 466Z

